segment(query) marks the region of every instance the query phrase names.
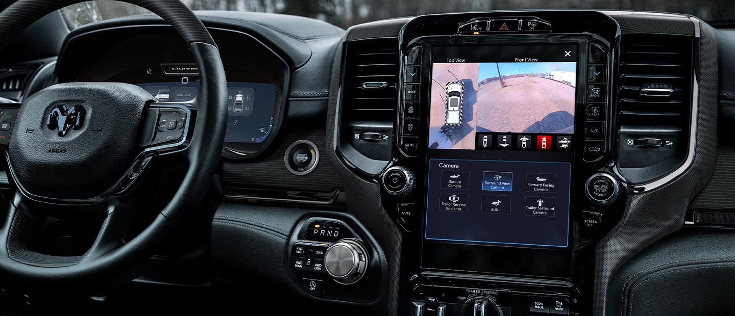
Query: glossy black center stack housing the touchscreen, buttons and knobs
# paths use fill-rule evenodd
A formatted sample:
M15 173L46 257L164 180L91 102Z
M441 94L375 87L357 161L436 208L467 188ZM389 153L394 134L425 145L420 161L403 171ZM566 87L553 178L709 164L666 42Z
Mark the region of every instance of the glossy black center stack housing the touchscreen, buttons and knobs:
M425 15L399 36L384 207L413 236L412 315L576 315L620 217L620 31L600 12ZM411 259L409 259L411 260Z

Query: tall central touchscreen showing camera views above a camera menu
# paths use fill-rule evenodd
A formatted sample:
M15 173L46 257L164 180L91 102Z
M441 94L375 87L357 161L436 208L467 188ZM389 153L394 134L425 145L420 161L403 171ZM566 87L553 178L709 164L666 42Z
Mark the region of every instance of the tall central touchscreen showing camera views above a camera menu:
M577 45L435 46L427 240L566 247Z

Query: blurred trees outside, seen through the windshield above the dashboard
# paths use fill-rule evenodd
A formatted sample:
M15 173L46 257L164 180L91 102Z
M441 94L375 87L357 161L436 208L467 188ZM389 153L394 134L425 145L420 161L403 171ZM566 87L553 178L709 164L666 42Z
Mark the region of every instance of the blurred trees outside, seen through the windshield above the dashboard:
M431 13L523 9L612 9L679 12L705 21L735 18L735 0L182 0L192 10L274 12L317 18L348 28L385 18ZM147 13L120 1L90 1L64 9L73 29L93 21Z

